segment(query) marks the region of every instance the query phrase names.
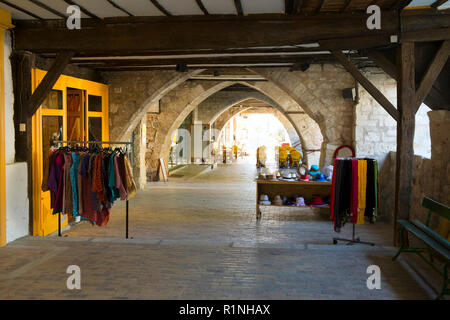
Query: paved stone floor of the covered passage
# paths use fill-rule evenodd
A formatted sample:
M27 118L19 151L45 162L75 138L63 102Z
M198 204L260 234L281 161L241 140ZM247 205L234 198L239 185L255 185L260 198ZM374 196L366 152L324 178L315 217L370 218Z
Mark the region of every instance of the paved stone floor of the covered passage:
M0 248L0 299L434 297L439 277L429 268L407 255L391 260L388 224L358 226L377 243L369 247L332 245L326 213L271 209L257 223L254 175L223 165L150 184L130 201L134 239L123 239L118 203L106 228L81 223L63 238L16 240ZM81 268L81 290L66 288L69 265ZM381 290L367 289L369 265L381 268Z

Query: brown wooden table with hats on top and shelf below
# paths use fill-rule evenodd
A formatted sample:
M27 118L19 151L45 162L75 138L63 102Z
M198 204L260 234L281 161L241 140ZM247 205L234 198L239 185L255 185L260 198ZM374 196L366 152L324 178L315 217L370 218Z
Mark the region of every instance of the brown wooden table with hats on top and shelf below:
M305 202L312 200L313 196L325 198L331 194L331 182L322 181L283 181L283 180L257 180L256 181L256 219L261 219L260 206L300 208L288 205L263 205L259 204L259 197L262 194L269 196L273 202L275 196L293 197L299 196L305 199Z

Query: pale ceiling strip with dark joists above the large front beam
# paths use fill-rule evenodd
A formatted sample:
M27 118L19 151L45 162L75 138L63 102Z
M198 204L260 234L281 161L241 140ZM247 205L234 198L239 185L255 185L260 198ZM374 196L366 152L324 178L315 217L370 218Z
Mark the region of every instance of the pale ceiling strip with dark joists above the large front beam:
M448 8L445 0L0 0L14 20L63 19L69 5L82 18L129 16L196 16L362 12L371 4L382 10L414 7Z

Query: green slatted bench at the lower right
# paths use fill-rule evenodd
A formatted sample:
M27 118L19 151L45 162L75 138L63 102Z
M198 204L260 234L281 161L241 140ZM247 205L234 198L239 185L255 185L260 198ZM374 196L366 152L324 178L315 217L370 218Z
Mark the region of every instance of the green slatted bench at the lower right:
M397 259L397 257L402 252L413 252L417 255L419 255L425 262L427 262L433 269L435 269L437 272L439 272L443 276L443 283L442 283L442 290L440 294L438 295L437 299L441 298L442 296L449 294L450 289L448 289L448 264L450 261L450 241L439 235L438 233L434 232L429 228L430 220L431 220L431 214L436 213L439 214L441 217L450 220L450 208L442 203L439 203L437 201L434 201L430 198L423 198L422 207L427 208L429 210L427 222L426 224L423 224L419 220L415 219L413 221L407 221L407 220L397 220L397 222L401 225L401 239L402 243L400 246L399 251L394 256L393 260ZM413 248L407 245L407 239L405 238L405 230L410 232L412 235L420 239L422 242L425 243L426 248ZM428 252L429 259L427 259L422 252ZM443 271L439 270L434 264L433 264L433 255L439 255L444 259L444 269Z

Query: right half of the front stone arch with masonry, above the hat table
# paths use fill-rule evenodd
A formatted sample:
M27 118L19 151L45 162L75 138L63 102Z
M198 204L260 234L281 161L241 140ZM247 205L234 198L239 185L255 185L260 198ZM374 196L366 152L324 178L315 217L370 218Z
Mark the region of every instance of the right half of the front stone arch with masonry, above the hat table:
M283 90L317 122L324 138L321 165L331 163L334 150L339 145L354 144L354 103L342 97L342 90L355 87L355 80L342 67L313 64L305 72L289 71L289 68L252 71Z

